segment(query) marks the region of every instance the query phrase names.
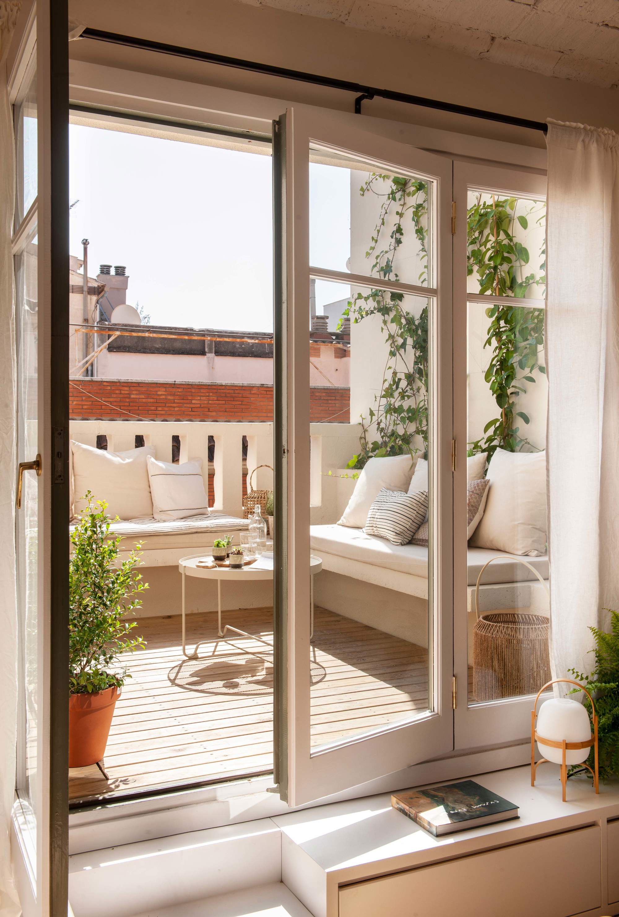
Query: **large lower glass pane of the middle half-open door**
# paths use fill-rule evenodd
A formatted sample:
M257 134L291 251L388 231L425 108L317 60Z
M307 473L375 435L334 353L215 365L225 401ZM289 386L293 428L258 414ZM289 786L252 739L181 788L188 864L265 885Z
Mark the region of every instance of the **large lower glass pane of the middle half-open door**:
M433 707L427 509L433 309L433 300L311 282L315 748L402 724ZM369 482L364 500L361 475ZM414 591L410 578L401 582L403 572L415 573Z

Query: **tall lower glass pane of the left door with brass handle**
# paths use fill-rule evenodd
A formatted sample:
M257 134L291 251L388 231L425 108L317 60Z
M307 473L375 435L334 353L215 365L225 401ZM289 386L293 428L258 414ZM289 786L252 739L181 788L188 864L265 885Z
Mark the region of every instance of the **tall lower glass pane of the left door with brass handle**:
M15 260L17 291L17 461L36 457L38 427L37 238L33 236ZM37 811L38 708L38 478L23 476L17 510L17 609L20 697L17 786Z

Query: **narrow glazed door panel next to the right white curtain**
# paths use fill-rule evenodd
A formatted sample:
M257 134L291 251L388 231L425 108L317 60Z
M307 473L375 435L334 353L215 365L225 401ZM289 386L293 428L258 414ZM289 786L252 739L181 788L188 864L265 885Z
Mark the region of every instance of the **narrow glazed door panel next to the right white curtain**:
M544 536L523 545L513 531L516 520L529 519L534 500L546 514L546 176L456 162L454 200L454 436L462 456L454 474L454 734L456 747L466 749L530 735L533 700L549 678L533 664L532 697L519 675L530 664L512 655L498 670L475 658L473 646L478 613L532 614L535 619L523 620L541 623L548 616ZM506 461L526 453L541 470L519 488L515 466L508 466L514 477L503 510L501 482L492 483L496 450ZM471 536L467 494L472 479L484 474L486 457L490 489ZM530 652L523 641L523 655Z

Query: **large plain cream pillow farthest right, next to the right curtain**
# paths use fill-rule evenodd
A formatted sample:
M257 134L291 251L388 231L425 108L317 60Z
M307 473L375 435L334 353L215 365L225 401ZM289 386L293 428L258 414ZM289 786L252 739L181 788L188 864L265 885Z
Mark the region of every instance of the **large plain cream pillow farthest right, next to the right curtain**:
M497 449L486 479L486 507L470 545L532 558L546 554L546 452Z

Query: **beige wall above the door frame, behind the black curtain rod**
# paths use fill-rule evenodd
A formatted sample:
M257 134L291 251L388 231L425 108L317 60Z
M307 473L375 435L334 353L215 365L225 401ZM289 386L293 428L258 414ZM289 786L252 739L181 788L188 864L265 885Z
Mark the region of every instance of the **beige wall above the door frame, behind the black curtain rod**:
M461 105L537 120L548 116L619 129L617 93L479 61L422 42L392 39L327 19L285 13L234 0L70 0L70 14L92 28L141 36L296 70L369 83ZM309 6L309 5L308 5ZM74 58L129 70L166 73L226 88L352 111L352 96L337 90L225 67L72 41ZM374 116L543 147L541 134L479 119L374 100Z

